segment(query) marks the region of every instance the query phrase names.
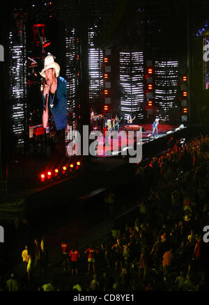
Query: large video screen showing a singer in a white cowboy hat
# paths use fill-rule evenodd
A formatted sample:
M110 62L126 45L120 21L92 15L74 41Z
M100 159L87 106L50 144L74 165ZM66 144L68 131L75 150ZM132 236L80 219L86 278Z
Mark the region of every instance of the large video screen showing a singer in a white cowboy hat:
M31 29L27 56L30 137L67 127L66 81L51 48L53 43L45 38L45 24L33 24Z

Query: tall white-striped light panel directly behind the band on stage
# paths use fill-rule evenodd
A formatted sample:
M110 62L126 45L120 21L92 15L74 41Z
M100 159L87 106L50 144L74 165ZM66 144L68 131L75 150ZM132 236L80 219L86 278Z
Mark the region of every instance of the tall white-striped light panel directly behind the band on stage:
M120 52L121 113L143 118L144 56L143 52Z

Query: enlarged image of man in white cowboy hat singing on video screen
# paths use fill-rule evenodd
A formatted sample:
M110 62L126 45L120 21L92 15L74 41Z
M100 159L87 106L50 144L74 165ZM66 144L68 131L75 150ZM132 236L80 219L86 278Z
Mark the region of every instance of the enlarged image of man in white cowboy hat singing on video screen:
M59 76L60 66L54 62L54 56L48 55L45 58L45 67L40 75L45 78L46 84L43 91L43 114L42 124L47 127L51 123L56 127L57 152L65 153L65 128L67 127L67 81ZM49 116L53 118L49 122Z

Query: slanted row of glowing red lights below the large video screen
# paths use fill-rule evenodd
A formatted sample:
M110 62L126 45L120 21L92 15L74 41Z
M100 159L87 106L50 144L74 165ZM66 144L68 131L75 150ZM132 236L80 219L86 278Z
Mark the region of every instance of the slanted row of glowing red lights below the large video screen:
M61 167L61 169L56 168L51 171L46 171L45 173L40 174L40 181L47 182L54 179L63 178L70 175L71 173L79 171L81 165L81 162L77 161L76 164L70 163L70 165L65 165Z

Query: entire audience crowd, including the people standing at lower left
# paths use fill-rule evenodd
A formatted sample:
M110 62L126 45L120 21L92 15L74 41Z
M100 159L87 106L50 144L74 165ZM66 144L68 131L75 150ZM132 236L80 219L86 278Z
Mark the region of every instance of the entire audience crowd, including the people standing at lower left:
M209 251L203 240L203 228L209 225L208 140L203 135L189 141L170 139L162 155L150 159L146 166L139 164L139 180L150 185L150 192L134 213L123 215L123 221L115 221L102 240L86 248L70 247L63 240L62 267L70 283L67 290L209 289ZM34 244L33 268L39 262L44 272L44 240L40 246L37 240ZM31 283L27 249L22 252L22 260ZM1 290L20 289L14 274L8 281L4 286L1 281ZM65 289L61 283L50 281L36 286L36 290Z

